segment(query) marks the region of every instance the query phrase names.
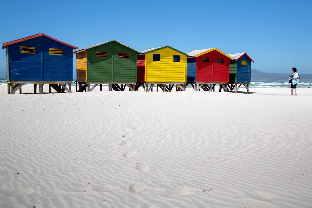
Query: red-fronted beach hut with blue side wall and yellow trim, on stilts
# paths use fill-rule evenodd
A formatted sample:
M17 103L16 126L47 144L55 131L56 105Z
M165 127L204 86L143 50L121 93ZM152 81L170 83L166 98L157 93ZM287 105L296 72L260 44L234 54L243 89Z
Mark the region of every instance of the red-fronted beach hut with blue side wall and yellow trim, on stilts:
M200 88L211 91L216 84L220 84L226 90L230 60L233 60L231 56L217 48L195 50L188 55L187 85L191 84L196 91Z

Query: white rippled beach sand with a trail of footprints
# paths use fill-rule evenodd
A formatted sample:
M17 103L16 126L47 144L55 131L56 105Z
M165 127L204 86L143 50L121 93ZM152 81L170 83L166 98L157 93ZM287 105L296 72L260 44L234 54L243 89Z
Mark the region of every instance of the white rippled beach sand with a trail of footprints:
M312 207L310 88L6 90L0 207Z

